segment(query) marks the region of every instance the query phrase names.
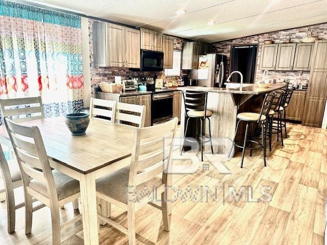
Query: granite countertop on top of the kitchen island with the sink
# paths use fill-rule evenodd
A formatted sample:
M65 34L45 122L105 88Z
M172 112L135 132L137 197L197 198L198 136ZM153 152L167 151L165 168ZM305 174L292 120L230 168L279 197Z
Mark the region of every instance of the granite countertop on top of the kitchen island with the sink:
M190 91L201 91L201 92L214 92L214 93L235 93L235 94L262 94L281 89L287 86L286 83L270 84L268 88L260 88L258 85L253 84L250 86L243 87L242 90L239 88L215 88L215 87L198 87L188 86L179 87L178 90L190 90Z

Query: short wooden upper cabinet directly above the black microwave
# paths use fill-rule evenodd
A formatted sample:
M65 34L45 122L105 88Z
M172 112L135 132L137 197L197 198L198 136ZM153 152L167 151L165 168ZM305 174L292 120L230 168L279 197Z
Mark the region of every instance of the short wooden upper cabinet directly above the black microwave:
M143 50L164 51L164 34L141 28L141 48Z

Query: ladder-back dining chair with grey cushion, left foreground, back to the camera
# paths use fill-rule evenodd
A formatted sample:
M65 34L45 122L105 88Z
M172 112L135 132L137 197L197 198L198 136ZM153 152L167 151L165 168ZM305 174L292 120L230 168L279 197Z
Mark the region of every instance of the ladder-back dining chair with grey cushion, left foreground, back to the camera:
M81 214L60 225L59 207L80 197L79 181L52 170L38 127L4 118L22 177L25 195L25 234L32 229L32 197L48 206L52 219L52 244L60 244L60 229L81 219Z

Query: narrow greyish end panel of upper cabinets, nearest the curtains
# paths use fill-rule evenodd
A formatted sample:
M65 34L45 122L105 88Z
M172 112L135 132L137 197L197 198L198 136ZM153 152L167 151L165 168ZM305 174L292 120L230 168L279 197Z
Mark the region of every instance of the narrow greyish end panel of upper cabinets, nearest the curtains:
M93 23L94 66L106 66L106 27L104 22Z

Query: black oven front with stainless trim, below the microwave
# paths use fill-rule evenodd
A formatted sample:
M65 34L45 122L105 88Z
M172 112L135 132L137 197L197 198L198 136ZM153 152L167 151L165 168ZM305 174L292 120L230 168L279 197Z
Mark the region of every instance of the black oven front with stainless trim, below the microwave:
M173 118L173 92L152 94L152 124L158 124Z

